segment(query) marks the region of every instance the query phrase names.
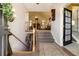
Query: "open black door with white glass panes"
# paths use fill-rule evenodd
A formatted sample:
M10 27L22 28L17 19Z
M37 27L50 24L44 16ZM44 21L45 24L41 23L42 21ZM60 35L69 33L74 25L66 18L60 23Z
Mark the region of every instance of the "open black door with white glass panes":
M72 11L64 8L64 35L63 45L72 43Z

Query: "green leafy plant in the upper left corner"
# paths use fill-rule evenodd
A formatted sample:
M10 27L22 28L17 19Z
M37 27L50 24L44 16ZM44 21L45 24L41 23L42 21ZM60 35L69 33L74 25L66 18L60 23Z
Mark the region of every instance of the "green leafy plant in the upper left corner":
M2 3L2 9L3 9L3 16L4 16L4 22L5 26L8 26L7 22L12 22L14 20L13 17L13 11L12 11L12 5L10 3Z

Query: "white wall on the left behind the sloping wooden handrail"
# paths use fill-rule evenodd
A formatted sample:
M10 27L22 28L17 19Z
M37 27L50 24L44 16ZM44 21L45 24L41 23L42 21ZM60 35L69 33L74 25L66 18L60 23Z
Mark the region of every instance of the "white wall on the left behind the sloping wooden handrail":
M25 43L25 21L28 20L28 13L26 14L26 9L23 4L12 4L15 9L16 18L13 22L9 22L9 28L12 33L14 33L21 41ZM18 50L25 50L25 46L20 43L16 38L10 36L10 44L13 52Z

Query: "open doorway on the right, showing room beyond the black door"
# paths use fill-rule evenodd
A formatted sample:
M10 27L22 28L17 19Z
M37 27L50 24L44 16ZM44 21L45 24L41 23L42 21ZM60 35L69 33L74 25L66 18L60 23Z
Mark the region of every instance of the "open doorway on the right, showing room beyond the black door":
M67 9L72 12L71 13L72 21L71 21L71 30L70 30L71 32L70 40L72 43L67 43L67 45L65 45L64 47L68 49L71 53L73 53L74 55L78 56L79 55L79 4L72 3L67 7ZM69 40L69 38L67 38L67 40Z

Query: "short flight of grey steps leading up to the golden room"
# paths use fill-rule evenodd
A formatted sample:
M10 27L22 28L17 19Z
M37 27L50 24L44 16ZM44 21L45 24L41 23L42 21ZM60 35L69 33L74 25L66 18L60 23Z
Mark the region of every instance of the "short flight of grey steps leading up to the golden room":
M54 42L53 40L53 37L52 37L52 34L51 32L37 32L37 39L40 41L40 42L47 42L47 43L52 43Z

